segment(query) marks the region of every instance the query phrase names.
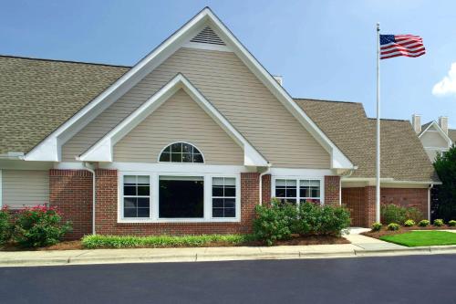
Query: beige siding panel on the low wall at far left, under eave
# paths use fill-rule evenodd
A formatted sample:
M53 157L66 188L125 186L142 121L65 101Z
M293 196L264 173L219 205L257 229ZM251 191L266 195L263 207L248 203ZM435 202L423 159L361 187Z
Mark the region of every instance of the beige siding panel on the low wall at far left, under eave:
M2 170L2 204L20 208L49 202L47 170Z

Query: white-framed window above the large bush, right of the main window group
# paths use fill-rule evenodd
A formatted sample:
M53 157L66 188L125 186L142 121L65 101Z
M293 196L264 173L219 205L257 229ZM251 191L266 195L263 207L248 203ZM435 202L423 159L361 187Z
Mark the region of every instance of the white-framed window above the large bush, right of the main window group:
M316 179L276 179L275 197L290 204L321 202L321 181Z

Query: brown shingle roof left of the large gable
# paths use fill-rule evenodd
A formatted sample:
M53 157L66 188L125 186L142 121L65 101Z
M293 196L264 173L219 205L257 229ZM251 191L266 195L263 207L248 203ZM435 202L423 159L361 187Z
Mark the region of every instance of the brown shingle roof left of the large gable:
M29 152L128 69L0 56L0 154Z

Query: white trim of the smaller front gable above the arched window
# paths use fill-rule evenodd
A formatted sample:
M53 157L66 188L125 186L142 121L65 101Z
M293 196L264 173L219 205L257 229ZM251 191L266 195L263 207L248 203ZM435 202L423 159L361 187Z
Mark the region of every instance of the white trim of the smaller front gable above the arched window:
M244 149L244 165L246 166L266 166L267 161L257 152L254 147L247 142L244 136L234 129L233 125L227 121L223 115L216 110L209 100L206 100L202 93L196 89L192 83L182 74L176 75L163 88L155 93L149 100L144 102L140 108L131 113L125 120L121 121L114 129L109 131L103 138L96 142L88 151L78 157L78 161L83 162L112 162L113 148L125 135L132 131L141 121L146 119L154 110L168 100L179 89L183 89L192 100L204 110L212 120L225 131L234 142Z

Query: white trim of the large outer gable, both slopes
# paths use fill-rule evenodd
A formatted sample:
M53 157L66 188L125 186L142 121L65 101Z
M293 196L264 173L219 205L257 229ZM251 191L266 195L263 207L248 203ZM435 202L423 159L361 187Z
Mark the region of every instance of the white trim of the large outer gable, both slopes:
M155 48L148 56L131 68L125 75L114 82L109 89L106 89L95 100L92 100L85 108L79 110L71 119L52 132L45 141L40 142L32 151L28 152L25 159L28 161L53 161L60 160L60 150L63 143L80 131L89 121L93 120L103 110L106 110L113 102L118 100L129 89L136 85L154 68L158 67L166 58L170 57L179 47L188 43L203 26L211 26L212 30L223 40L226 47L241 58L244 64L250 68L254 75L270 89L275 98L282 102L304 128L309 131L317 142L319 142L331 155L332 169L351 169L353 163L341 152L337 146L329 140L326 134L321 131L304 110L299 108L285 89L280 86L274 77L254 58L252 54L234 37L233 33L223 25L222 21L215 16L209 7L194 16L171 37L165 40L159 47Z

